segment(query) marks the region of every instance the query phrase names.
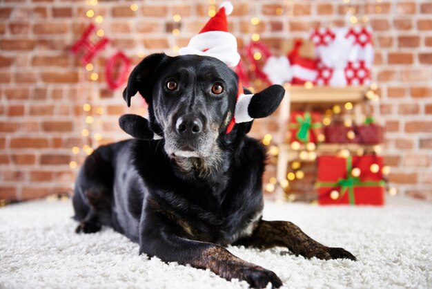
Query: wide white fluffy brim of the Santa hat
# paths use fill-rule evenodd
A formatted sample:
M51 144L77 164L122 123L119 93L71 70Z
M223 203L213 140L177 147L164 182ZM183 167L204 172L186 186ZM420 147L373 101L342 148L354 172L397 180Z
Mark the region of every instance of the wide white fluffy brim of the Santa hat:
M208 31L195 35L188 46L180 48L179 54L215 57L230 67L237 66L240 61L237 39L230 32L224 31Z

